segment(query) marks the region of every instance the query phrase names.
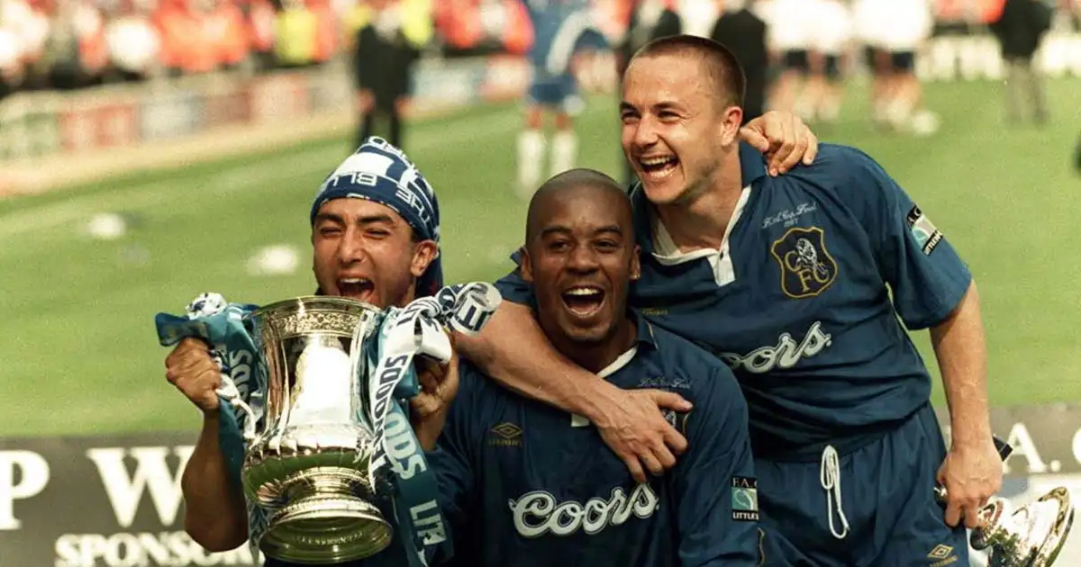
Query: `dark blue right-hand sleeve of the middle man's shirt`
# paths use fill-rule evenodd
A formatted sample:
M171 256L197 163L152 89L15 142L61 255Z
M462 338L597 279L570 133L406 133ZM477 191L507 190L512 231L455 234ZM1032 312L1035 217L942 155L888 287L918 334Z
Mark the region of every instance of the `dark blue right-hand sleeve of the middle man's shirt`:
M726 367L703 383L683 417L688 451L672 476L680 565L757 566L762 540L747 403Z

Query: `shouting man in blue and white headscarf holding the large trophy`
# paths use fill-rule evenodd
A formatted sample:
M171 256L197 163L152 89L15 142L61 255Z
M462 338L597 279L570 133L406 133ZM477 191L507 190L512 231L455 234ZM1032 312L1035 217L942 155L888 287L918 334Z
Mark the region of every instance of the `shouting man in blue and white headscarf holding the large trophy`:
M386 308L442 287L436 193L386 140L369 138L323 181L310 219L319 293ZM209 551L235 549L248 539L248 511L233 482L239 471L226 464L240 459L225 458L242 445L227 448L221 441L240 437L236 422L223 426L221 370L206 342L190 338L176 346L165 366L169 380L203 411L199 442L181 481L185 529ZM414 403L426 403L425 395L431 394Z

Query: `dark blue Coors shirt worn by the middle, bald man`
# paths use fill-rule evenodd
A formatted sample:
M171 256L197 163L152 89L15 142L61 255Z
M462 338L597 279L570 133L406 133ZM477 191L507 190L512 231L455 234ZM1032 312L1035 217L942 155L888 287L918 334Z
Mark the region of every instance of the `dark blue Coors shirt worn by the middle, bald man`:
M600 373L694 404L670 414L691 448L637 484L597 429L518 395L463 363L429 462L440 477L455 565L757 565L760 532L747 409L728 367L644 319L637 347ZM440 559L445 559L441 554Z

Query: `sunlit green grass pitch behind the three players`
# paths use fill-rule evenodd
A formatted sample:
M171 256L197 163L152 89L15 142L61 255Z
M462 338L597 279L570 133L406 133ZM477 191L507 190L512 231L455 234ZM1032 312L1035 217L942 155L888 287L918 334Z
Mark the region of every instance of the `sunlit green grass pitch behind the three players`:
M1081 83L1049 86L1056 113L1044 130L1004 127L993 83L930 85L943 116L930 138L872 131L855 87L846 120L818 129L882 162L969 261L997 405L1081 400L1070 327L1081 262L1068 244L1081 189L1069 170ZM521 239L524 204L510 192L520 122L516 106L498 106L408 132L406 150L440 194L451 281L497 276ZM579 124L582 164L617 172L613 102L595 99ZM307 266L310 200L349 143L0 201L0 434L196 427L196 410L164 379L168 351L157 343L154 314L181 312L204 291L256 303L309 293L306 267L255 278L245 265L256 248L284 243L302 249ZM122 240L91 240L83 226L98 212L135 224Z

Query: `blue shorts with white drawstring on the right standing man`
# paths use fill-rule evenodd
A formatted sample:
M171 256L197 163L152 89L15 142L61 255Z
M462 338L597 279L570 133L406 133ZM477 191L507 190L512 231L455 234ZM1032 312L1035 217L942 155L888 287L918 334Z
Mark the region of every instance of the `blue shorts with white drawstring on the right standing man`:
M838 457L836 500L827 502L824 462L755 460L765 563L777 567L929 567L969 565L964 525L946 525L934 499L946 457L930 404L897 429ZM827 508L831 504L831 511ZM832 515L833 529L830 529Z

